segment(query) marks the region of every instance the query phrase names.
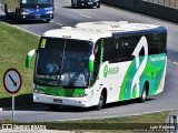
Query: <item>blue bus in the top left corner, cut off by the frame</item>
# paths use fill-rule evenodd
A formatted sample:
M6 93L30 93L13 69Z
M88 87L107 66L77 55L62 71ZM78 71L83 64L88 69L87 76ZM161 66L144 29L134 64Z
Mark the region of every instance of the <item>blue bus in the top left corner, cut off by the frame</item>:
M53 0L1 0L1 8L7 17L14 17L18 22L22 20L53 19Z

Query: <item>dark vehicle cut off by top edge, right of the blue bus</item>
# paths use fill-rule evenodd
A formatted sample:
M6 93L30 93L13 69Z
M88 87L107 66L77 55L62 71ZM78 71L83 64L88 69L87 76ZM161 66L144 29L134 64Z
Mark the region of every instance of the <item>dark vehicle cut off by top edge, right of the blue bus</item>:
M97 7L100 8L100 0L71 0L72 8Z

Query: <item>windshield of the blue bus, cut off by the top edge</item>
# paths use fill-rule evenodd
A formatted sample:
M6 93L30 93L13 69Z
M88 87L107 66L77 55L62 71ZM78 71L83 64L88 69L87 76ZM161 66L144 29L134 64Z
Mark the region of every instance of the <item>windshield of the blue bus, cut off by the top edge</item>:
M53 0L22 0L21 1L23 7L28 6L52 6Z

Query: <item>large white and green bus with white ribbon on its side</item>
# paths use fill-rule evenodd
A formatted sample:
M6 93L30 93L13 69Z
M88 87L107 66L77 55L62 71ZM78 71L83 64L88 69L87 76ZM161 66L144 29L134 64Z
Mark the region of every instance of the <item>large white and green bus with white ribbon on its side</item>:
M49 30L27 54L33 72L33 102L96 106L164 91L167 30L127 21L81 22Z

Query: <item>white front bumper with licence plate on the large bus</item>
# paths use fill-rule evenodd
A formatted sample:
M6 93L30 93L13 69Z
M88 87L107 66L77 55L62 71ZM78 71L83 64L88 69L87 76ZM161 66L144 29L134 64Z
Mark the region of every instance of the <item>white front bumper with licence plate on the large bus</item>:
M89 98L65 98L65 96L53 96L53 95L47 95L47 94L39 94L33 92L33 102L38 103L47 103L47 104L61 104L61 105L72 105L72 106L81 106L81 108L88 108Z

